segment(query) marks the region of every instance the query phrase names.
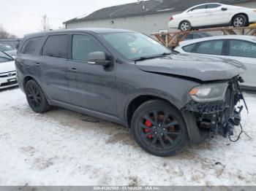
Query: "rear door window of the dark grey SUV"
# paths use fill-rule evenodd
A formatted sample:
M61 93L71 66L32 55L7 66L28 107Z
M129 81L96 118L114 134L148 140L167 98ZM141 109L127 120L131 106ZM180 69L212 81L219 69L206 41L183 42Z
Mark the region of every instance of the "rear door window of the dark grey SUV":
M42 47L42 55L54 58L66 58L68 50L67 34L49 36Z

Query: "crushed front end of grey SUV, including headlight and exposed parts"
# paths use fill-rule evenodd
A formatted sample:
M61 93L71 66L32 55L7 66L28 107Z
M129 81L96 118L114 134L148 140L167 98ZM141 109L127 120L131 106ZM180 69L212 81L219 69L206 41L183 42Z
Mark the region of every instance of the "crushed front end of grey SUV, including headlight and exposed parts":
M183 112L192 113L197 127L204 132L232 136L233 129L241 122L243 106L239 106L239 103L244 101L238 82L243 82L243 79L234 77L228 82L193 88L189 92L193 99L184 106Z

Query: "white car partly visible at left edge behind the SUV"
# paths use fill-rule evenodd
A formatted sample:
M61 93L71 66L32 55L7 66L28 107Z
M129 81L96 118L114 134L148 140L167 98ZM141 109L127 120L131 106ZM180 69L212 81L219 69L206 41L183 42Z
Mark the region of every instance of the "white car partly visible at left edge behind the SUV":
M0 51L0 89L18 85L15 61L7 53Z

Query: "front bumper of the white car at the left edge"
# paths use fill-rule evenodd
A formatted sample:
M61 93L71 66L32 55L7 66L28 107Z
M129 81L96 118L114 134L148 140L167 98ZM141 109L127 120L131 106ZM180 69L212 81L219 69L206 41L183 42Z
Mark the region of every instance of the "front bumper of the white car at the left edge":
M0 74L0 89L18 85L16 71L9 71Z

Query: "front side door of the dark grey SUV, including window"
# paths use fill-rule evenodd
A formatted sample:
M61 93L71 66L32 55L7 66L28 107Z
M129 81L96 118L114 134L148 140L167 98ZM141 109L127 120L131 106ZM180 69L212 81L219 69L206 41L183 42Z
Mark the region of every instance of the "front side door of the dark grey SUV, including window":
M90 52L108 52L90 34L73 34L70 59L67 62L69 96L72 104L96 112L116 115L114 65L87 63Z

